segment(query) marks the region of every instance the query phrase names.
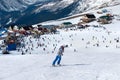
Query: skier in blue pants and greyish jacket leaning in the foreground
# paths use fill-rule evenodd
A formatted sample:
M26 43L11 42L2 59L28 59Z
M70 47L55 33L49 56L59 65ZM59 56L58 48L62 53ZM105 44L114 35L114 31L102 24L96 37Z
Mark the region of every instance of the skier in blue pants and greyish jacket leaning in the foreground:
M61 57L63 56L63 52L64 52L64 48L65 47L68 47L68 45L66 45L66 46L63 46L63 45L60 46L59 51L57 53L57 56L56 56L56 58L54 59L54 61L52 63L53 66L55 66L56 62L57 62L57 65L61 66L61 64L60 64Z

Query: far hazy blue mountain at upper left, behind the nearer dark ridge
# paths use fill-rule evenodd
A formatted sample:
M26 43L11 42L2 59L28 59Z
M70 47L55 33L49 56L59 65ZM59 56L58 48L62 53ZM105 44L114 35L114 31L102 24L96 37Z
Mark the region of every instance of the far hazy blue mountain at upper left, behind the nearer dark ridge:
M47 0L0 0L0 25L5 26L15 23L31 5L46 1Z

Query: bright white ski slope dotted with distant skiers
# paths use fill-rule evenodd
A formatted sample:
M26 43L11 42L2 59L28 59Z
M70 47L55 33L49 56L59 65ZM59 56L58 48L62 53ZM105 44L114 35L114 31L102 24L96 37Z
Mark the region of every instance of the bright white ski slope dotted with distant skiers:
M120 5L107 9L119 15L119 8ZM93 11L95 15L96 12ZM25 37L25 43L29 42L26 47L33 44L33 51L25 55L17 51L11 52L13 55L0 55L0 80L120 80L120 42L115 40L120 39L120 21L116 18L112 24L102 25L106 29L91 26L81 30L59 30L60 34L46 34L38 40L32 37L32 43L29 42L30 36ZM45 45L36 48L39 41ZM61 44L68 44L62 57L63 66L52 67Z

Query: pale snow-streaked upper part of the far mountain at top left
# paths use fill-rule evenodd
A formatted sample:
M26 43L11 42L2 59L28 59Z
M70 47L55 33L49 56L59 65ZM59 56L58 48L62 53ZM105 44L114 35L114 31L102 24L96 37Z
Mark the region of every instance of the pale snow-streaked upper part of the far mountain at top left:
M0 9L10 12L19 11L29 5L46 0L0 0Z

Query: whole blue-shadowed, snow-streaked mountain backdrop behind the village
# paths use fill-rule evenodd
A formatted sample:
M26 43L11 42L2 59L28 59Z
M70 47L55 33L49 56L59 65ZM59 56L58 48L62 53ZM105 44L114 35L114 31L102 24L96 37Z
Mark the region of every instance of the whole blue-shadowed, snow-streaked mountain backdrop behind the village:
M55 20L113 1L116 0L0 0L0 26Z

